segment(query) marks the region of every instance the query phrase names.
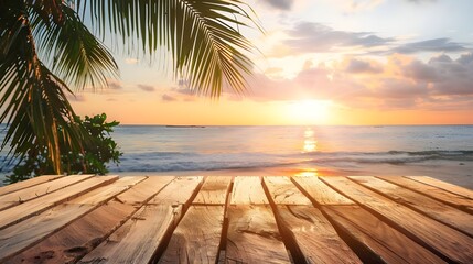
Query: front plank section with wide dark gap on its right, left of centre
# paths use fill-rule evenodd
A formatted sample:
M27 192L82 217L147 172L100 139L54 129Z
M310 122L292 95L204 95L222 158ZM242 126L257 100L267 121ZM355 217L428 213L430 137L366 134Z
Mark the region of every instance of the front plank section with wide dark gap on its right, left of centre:
M223 206L191 206L159 263L216 263L224 210Z

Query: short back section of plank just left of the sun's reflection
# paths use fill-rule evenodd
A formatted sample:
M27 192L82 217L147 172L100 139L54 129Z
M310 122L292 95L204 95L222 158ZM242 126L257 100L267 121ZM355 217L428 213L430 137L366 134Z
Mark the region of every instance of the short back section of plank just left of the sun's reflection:
M276 205L312 205L288 177L264 177L264 184Z

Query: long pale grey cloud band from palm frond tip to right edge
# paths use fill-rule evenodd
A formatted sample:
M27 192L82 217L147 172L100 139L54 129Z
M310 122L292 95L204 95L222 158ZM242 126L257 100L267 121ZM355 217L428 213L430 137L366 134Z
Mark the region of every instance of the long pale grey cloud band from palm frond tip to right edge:
M472 43L459 43L448 37L401 42L395 37L381 37L374 32L334 30L331 26L302 21L284 31L281 40L268 54L279 58L308 53L390 55L395 53L460 53L471 52Z

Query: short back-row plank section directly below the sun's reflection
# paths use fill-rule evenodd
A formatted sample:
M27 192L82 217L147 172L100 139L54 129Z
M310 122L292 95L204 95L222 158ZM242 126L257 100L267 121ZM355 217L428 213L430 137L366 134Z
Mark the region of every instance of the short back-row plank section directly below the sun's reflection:
M292 177L291 179L315 205L355 205L354 201L332 189L319 177Z

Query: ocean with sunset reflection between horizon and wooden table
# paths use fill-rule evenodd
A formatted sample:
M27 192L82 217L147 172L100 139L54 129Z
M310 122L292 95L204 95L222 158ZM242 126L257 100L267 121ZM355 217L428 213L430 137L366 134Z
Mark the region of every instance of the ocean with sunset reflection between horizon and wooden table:
M428 175L473 189L473 125L119 125L112 138L123 155L110 174Z

